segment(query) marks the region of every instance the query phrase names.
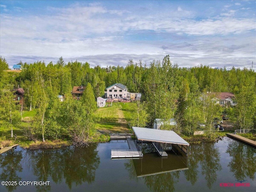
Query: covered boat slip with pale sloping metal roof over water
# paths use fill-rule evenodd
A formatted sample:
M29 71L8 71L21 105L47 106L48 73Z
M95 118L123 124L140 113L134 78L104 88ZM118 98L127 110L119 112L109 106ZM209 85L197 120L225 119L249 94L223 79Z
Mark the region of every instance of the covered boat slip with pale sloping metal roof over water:
M143 141L152 142L160 156L168 156L163 150L164 144L175 144L178 146L178 148L185 152L186 155L188 154L189 143L182 139L174 131L141 127L132 127L132 130L134 131L134 136L136 136L137 140L139 140L141 143L143 143Z

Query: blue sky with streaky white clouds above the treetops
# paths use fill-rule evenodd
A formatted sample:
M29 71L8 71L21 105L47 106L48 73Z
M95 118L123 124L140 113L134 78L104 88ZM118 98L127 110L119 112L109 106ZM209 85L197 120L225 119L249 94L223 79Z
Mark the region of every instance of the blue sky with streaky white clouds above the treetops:
M256 1L0 0L0 55L9 66L129 59L256 69Z

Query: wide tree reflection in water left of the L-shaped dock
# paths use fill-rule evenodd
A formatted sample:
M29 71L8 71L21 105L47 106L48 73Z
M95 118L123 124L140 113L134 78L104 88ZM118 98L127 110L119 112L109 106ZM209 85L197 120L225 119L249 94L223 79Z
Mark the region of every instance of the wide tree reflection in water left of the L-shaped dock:
M73 184L77 186L83 182L94 182L95 171L100 164L97 146L91 144L84 148L70 146L58 150L27 150L29 165L38 180L52 178L54 183L65 180L71 190ZM48 190L50 186L40 187L40 191Z

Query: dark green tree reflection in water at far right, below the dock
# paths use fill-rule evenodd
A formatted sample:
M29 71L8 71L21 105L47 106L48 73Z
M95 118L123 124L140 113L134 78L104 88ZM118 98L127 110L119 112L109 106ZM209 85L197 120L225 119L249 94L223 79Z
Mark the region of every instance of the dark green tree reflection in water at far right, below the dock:
M256 150L235 140L230 140L226 152L231 157L228 167L230 167L230 172L234 173L236 180L242 181L246 177L254 180Z

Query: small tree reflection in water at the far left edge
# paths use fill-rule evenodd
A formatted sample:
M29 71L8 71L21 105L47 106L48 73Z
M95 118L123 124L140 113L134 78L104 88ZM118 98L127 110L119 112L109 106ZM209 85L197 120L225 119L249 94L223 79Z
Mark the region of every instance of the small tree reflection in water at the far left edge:
M21 177L17 172L22 172L20 161L22 160L22 152L11 149L0 155L0 180L1 181L19 181ZM18 185L6 186L8 191L16 190Z

